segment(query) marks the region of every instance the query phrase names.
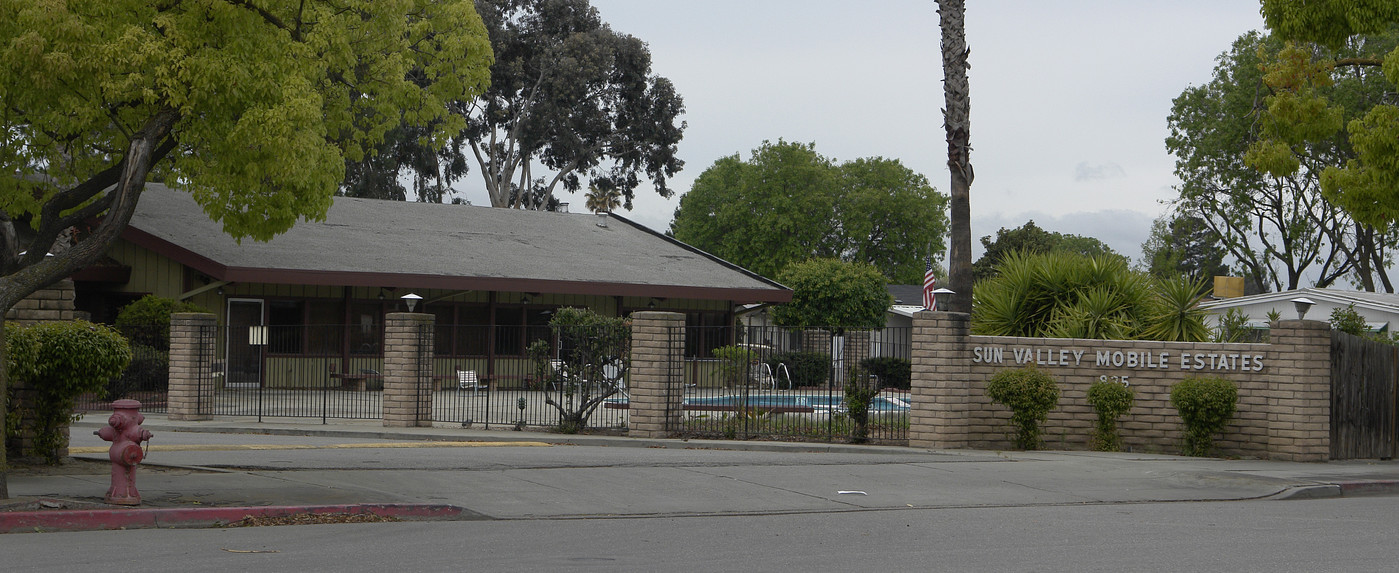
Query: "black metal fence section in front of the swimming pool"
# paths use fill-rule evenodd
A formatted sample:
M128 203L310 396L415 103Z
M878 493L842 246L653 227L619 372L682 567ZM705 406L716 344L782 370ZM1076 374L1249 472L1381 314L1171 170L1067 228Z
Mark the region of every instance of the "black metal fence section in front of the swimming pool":
M670 430L718 439L907 442L909 335L909 328L688 327L687 341L730 344L686 358L683 412ZM867 404L863 415L860 402Z

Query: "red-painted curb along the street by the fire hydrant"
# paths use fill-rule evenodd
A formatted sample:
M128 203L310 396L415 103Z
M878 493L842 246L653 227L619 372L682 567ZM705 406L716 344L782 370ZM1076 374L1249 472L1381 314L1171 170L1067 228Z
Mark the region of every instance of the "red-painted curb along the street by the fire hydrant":
M0 534L42 531L99 531L161 527L220 527L243 517L295 514L375 514L409 521L477 521L488 516L436 503L354 503L339 506L84 509L0 513Z

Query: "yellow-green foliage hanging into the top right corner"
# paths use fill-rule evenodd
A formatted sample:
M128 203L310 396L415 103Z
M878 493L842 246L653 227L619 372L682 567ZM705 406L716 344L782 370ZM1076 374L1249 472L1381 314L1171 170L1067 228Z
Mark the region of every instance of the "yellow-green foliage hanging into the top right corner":
M1392 35L1399 3L1263 0L1262 13L1267 28L1290 43L1266 63L1270 94L1251 164L1273 176L1293 173L1309 144L1333 138L1343 124L1354 154L1322 171L1322 190L1364 224L1384 228L1399 221L1399 105L1388 98L1357 108L1328 92L1357 75L1395 91L1399 45L1367 38Z

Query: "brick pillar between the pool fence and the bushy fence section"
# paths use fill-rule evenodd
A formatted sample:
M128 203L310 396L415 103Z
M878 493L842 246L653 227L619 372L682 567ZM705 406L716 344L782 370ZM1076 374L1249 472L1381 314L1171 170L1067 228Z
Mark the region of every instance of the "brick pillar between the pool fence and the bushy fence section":
M684 400L686 316L666 312L631 314L628 435L666 437L680 426Z

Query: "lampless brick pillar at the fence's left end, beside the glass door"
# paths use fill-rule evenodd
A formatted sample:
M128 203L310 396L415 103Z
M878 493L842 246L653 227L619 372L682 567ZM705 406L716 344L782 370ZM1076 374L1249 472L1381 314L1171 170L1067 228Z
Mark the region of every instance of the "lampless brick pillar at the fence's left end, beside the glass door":
M214 314L171 314L169 419L210 418L217 328Z

